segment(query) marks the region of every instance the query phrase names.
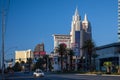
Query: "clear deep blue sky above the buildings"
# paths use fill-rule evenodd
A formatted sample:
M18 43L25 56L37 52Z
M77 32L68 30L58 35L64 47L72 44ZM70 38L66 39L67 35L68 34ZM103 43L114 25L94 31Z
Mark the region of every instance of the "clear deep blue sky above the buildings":
M0 45L2 45L2 2L0 0ZM117 42L117 0L8 0L5 7L5 53L34 50L45 44L53 51L53 34L69 34L78 8L81 20L87 14L96 46ZM1 46L0 46L1 51Z

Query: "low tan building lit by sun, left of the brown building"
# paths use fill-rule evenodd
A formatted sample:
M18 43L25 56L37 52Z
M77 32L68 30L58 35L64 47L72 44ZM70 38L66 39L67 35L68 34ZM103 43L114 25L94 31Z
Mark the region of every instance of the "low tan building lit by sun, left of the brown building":
M33 52L31 49L24 51L15 51L15 62L26 62L27 58L33 58Z

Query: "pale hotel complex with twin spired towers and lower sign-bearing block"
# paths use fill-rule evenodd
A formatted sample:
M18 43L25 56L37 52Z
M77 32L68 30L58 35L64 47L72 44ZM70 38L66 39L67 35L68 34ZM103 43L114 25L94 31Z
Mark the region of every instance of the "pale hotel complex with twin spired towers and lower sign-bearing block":
M86 40L91 40L91 25L90 22L87 19L87 15L85 14L84 20L81 20L81 17L79 16L78 9L76 8L75 14L73 15L72 18L72 23L71 23L71 31L70 35L53 35L54 37L54 64L53 68L54 70L60 70L60 63L58 62L58 52L56 51L59 44L65 44L67 48L73 49L75 56L77 58L81 58L83 56L86 57L85 51L83 51L81 48L84 45L84 42ZM69 60L69 59L68 59ZM67 60L67 63L69 61ZM77 65L77 64L76 64ZM63 65L65 67L65 65ZM77 67L76 67L77 69Z

